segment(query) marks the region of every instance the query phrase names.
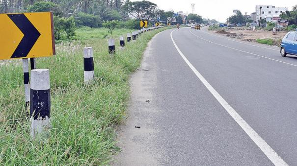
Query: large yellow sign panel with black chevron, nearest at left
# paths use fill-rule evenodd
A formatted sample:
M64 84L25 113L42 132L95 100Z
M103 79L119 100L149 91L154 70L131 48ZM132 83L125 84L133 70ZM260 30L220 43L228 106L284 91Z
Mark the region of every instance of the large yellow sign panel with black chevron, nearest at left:
M0 60L52 56L52 12L0 14Z

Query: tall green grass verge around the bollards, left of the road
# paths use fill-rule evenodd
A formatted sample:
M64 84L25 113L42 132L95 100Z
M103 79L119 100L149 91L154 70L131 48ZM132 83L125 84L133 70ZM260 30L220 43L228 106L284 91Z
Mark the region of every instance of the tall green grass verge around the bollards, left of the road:
M129 76L140 66L148 41L146 32L119 50L118 37L132 30L117 29L116 53L108 54L106 29L79 29L72 43L56 46L57 54L37 58L37 68L51 74L51 129L48 137L31 139L24 108L21 61L0 68L0 165L108 165L119 149L115 126L125 117L130 97ZM98 32L98 33L97 33ZM93 36L93 37L92 37ZM104 36L104 35L103 35ZM83 47L93 47L96 80L83 84Z

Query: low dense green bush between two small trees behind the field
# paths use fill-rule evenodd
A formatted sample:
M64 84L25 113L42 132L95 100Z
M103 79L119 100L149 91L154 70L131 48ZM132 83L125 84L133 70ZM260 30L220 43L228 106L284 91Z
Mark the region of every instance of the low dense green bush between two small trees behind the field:
M89 26L91 28L102 27L102 21L99 15L86 14L79 12L75 16L75 23L78 26Z

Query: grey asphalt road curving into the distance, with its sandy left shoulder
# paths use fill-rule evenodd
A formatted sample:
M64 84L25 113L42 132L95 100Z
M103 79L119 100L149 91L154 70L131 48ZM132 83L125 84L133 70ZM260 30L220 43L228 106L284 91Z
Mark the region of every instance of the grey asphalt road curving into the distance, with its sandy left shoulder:
M296 83L278 47L163 31L131 79L113 165L297 166Z

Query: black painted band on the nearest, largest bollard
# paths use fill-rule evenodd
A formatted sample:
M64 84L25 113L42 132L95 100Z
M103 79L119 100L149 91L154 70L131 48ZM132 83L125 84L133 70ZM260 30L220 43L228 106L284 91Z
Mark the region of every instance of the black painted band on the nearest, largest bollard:
M50 118L51 114L51 89L30 89L30 116L34 120Z

